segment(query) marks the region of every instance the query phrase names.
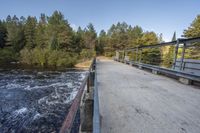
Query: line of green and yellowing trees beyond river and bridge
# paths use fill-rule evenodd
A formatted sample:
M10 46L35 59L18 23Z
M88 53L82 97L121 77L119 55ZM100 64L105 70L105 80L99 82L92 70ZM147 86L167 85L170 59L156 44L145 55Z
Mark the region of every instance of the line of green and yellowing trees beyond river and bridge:
M200 36L200 16L184 31L185 37ZM0 64L20 62L40 67L72 67L77 61L94 55L113 56L115 50L162 42L162 34L144 31L125 22L113 24L99 35L93 24L73 30L64 15L55 11L40 19L28 16L0 20ZM160 49L144 51L143 60L162 58ZM146 59L148 58L148 59Z

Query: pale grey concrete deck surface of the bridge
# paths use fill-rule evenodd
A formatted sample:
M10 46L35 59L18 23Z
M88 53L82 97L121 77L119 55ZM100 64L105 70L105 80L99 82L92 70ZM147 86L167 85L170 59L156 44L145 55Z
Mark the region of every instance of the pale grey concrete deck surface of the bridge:
M111 60L97 61L102 133L199 133L200 89Z

